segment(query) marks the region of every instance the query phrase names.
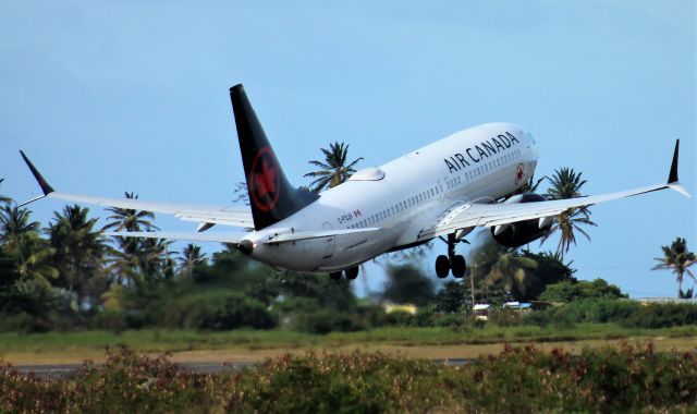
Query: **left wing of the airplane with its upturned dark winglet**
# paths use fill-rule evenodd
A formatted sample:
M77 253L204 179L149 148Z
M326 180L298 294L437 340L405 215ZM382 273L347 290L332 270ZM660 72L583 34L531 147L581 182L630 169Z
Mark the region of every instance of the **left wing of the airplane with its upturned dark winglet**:
M33 203L39 198L56 198L66 202L94 204L103 207L117 207L129 208L134 210L145 210L154 212L164 212L174 215L185 221L198 221L215 224L236 226L244 228L254 228L254 221L252 220L252 211L245 207L237 206L205 206L205 205L185 205L185 204L168 204L168 203L152 203L145 202L135 198L108 198L97 197L90 195L69 194L57 192L51 187L39 171L34 167L32 161L26 157L23 151L22 158L32 170L34 178L39 183L42 196L33 198L22 206Z

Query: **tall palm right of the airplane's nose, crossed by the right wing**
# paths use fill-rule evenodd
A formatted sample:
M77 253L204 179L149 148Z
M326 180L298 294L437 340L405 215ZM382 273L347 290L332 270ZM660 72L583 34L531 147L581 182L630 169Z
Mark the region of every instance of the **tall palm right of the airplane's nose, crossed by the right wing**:
M551 186L547 190L548 199L564 199L582 197L580 188L586 184L586 180L582 180L582 173L576 173L573 168L562 168L554 170L554 175L548 180ZM549 233L540 240L540 244L545 243L552 234L559 232L559 244L557 245L557 253L560 254L561 259L564 259L564 254L568 252L572 243L576 244L576 232L583 234L590 241L590 236L582 228L582 226L598 226L590 219L590 210L587 207L570 208L557 215L552 224L552 229Z

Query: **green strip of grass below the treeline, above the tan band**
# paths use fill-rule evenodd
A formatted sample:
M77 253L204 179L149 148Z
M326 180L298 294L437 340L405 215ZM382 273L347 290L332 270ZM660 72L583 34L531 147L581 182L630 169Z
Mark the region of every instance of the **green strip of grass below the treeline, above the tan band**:
M697 337L697 326L694 324L659 328L619 322L584 322L572 326L552 324L477 326L475 324L457 325L455 318L449 318L449 321L452 322L450 326L442 327L384 327L327 334L283 329L232 331L140 329L120 333L99 330L45 333L2 332L0 333L0 357L3 354L17 352L50 354L68 350L99 351L105 346L118 345L143 352L180 352L234 349L334 349L367 344L439 346Z

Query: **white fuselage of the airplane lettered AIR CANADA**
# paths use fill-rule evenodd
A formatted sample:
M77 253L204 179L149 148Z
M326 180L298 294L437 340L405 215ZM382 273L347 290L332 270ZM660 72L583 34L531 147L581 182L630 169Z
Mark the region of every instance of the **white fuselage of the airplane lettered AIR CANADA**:
M252 257L298 271L337 271L392 249L425 242L419 233L448 219L457 206L491 203L533 175L535 141L519 126L489 123L457 132L390 161L358 171L318 200L244 239ZM293 231L379 228L293 243L262 244L270 234ZM467 229L463 233L466 233Z

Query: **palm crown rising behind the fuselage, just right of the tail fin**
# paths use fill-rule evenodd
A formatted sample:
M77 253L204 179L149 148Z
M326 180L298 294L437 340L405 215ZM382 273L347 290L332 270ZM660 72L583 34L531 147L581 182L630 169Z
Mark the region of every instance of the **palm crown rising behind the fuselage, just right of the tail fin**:
M319 193L325 188L334 187L344 181L348 180L351 174L356 172L354 166L363 160L363 157L356 158L350 163L346 163L348 155L348 145L339 142L329 144L329 149L320 148L325 154L325 161L308 161L309 165L318 167L318 171L308 172L305 176L314 178L315 181L310 184L311 191Z

